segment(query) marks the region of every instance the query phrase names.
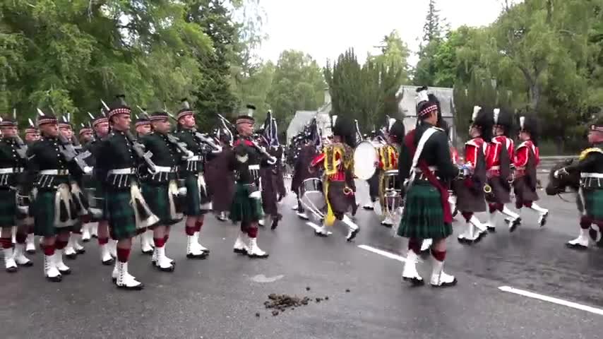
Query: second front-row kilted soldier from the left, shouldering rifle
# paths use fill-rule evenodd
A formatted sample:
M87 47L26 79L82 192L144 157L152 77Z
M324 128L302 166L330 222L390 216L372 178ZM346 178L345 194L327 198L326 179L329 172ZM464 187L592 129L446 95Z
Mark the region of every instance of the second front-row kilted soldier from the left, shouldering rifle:
M40 115L37 124L42 138L28 148L28 171L37 174L30 215L34 218L35 234L42 237L44 275L59 282L62 275L71 273L63 262L63 251L77 218L69 186L71 173L77 166L64 155L56 117Z

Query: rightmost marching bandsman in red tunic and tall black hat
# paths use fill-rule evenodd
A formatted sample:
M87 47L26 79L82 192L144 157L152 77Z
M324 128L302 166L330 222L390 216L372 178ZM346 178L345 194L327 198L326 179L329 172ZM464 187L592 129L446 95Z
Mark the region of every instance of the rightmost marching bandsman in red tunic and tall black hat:
M524 116L519 118L520 132L519 138L522 141L515 150L513 163L515 165L515 180L513 188L515 189L515 207L520 210L527 207L538 213L538 224L540 227L547 223L549 210L538 206L535 201L538 200L536 193L536 167L540 162L538 150L538 126L535 117ZM515 219L518 220L518 219ZM508 220L509 222L513 220ZM518 222L511 223L510 232L520 225Z

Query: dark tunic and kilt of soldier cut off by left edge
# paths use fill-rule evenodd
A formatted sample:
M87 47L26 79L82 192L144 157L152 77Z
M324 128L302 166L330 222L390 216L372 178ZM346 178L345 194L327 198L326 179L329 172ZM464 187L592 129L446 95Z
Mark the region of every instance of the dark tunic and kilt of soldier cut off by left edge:
M0 139L0 228L16 225L15 187L20 184L27 162L18 154L20 148L13 138Z

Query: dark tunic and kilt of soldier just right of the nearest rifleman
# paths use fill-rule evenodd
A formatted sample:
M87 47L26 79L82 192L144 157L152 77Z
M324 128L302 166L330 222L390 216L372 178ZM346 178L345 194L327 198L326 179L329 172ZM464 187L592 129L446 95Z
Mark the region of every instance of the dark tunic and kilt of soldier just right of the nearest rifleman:
M153 153L152 160L160 172L143 179L143 196L151 210L160 219L158 225L173 225L184 217L184 203L179 201L177 170L181 154L167 135L150 133L141 138L145 150Z

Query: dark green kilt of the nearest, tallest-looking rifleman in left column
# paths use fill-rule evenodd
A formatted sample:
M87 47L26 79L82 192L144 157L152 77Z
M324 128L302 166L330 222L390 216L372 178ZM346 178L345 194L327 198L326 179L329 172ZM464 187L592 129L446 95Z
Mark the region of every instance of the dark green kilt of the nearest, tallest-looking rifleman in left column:
M103 215L109 221L109 233L115 240L136 236L136 215L131 205L130 189L104 192Z

